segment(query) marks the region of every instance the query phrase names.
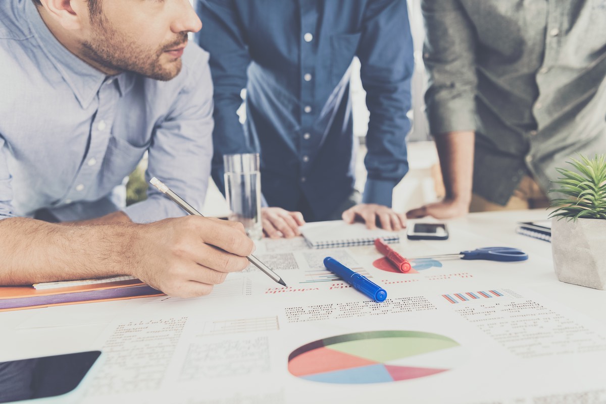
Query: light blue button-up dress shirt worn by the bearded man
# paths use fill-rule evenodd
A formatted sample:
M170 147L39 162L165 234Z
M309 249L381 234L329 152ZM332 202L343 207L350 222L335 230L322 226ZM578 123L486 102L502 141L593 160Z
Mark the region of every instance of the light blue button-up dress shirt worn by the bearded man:
M108 77L55 39L31 0L0 4L0 218L47 208L60 221L122 209L136 223L184 215L150 187L124 207L145 151L158 177L202 207L213 151L208 54L189 44L175 79Z

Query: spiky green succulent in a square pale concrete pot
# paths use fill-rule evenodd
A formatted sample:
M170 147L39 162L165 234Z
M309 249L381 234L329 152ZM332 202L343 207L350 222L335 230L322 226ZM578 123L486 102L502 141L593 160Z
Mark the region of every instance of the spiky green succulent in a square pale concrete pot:
M561 178L551 207L553 266L562 282L606 289L606 157L570 159L573 169L558 168Z

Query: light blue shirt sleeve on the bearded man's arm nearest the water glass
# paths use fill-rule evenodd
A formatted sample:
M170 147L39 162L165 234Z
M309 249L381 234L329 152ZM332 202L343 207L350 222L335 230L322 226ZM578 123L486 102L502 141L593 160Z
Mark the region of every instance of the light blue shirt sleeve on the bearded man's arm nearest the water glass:
M195 46L195 45L194 45ZM156 127L148 149L145 180L157 177L191 206L202 209L213 155L213 86L208 54L183 65L187 81L168 116ZM155 187L147 200L124 209L135 223L148 223L186 212Z

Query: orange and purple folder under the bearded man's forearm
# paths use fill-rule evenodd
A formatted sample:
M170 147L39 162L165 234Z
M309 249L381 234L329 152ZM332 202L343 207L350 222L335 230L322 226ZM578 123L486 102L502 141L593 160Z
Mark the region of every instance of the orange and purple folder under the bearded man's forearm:
M139 279L36 290L33 286L0 287L0 311L163 296Z

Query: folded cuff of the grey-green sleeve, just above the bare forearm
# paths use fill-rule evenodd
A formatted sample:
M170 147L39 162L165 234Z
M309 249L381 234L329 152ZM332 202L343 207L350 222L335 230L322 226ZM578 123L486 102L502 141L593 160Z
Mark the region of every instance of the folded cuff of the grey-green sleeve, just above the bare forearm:
M432 135L457 131L475 132L476 103L466 97L429 103L427 119Z

